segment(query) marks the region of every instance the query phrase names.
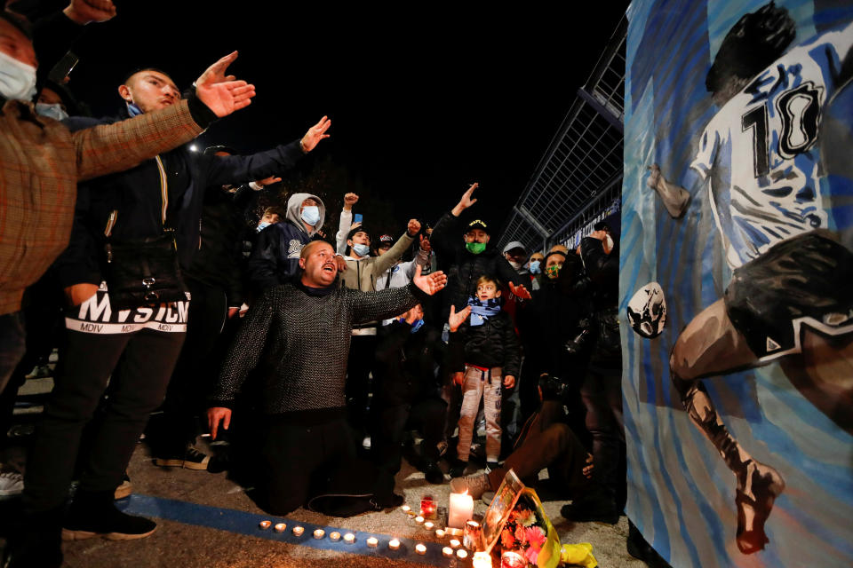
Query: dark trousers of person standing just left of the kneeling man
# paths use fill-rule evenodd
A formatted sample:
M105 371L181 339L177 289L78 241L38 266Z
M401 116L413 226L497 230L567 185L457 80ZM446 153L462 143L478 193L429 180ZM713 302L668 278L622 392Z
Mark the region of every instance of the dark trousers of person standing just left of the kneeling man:
M189 303L187 338L180 351L163 414L155 416L149 432L156 455L180 455L197 435L197 416L219 376L220 355L214 348L227 320L227 298L221 288L186 279L193 300Z

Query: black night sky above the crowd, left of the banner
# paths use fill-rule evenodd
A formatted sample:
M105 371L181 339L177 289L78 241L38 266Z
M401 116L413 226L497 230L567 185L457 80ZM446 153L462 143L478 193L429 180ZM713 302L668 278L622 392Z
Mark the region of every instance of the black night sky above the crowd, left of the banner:
M327 224L337 223L347 190L363 194L356 212L366 223L371 214L380 221L371 225L395 218L402 231L409 217L434 222L479 181L472 213L498 236L626 9L307 5L116 1L118 16L90 25L76 45L70 86L94 114L112 115L132 68L163 68L185 88L238 50L230 72L258 95L212 126L201 146L263 150L328 114L331 138L285 178L336 209Z

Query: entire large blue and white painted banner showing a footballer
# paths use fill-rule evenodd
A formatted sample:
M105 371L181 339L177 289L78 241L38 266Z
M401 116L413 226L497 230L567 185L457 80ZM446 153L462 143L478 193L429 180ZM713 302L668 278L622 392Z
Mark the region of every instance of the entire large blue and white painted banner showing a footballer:
M851 566L853 4L628 20L628 515L678 568Z

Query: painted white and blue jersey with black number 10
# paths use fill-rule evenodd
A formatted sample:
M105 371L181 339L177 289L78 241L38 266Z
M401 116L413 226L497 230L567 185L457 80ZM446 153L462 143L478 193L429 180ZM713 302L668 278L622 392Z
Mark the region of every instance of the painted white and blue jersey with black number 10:
M841 88L853 24L788 51L730 99L702 134L693 170L707 180L729 266L827 228L817 132ZM732 157L735 156L735 159Z

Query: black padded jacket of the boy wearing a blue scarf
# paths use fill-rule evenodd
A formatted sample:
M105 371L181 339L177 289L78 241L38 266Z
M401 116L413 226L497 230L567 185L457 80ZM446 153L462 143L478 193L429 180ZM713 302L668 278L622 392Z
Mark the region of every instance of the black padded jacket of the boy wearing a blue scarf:
M472 326L467 321L450 334L450 371L465 369L466 363L477 367L502 367L504 376L518 377L522 350L515 335L513 320L506 312Z

